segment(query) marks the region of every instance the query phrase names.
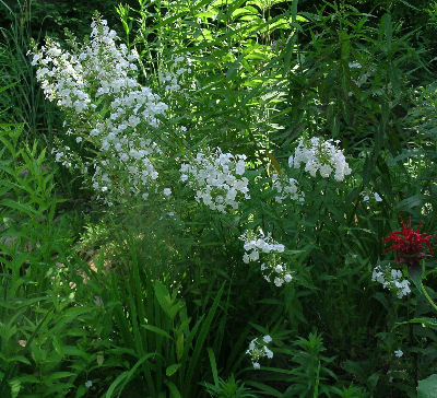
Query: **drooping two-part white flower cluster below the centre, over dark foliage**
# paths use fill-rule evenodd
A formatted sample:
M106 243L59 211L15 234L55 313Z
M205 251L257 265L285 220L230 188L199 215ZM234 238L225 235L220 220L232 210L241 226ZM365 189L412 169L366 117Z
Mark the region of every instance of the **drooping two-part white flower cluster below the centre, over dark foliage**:
M273 281L277 288L281 288L284 282L290 283L293 280L287 266L281 262L280 254L284 253L284 245L273 241L270 234L265 236L262 230L258 233L248 230L239 238L245 243L243 246L246 251L243 256L245 264L259 261L262 254L261 271L268 282Z

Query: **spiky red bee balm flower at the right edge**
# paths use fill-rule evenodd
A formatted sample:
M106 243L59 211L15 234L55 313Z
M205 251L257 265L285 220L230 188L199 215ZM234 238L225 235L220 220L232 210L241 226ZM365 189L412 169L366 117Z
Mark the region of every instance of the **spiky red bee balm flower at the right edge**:
M394 245L387 248L385 253L395 250L399 264L404 262L414 266L418 264L421 258L425 257L425 253L423 251L424 243L426 243L430 254L434 256L429 239L436 235L420 234L418 231L421 230L422 221L417 226L417 231L413 231L411 229L411 215L409 221L409 225L405 226L401 218L402 230L392 232L390 236L383 239L383 243L394 242Z

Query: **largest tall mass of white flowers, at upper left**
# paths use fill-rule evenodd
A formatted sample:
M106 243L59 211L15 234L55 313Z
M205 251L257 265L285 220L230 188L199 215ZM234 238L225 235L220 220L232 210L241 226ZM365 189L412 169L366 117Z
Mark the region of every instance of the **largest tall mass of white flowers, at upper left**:
M46 97L64 110L68 134L98 151L91 161L73 166L80 166L85 179L106 197L144 192L158 176L151 156L161 153L144 134L158 126L167 105L137 81L137 51L117 45L117 34L106 21L96 17L91 26L84 44L71 40L72 52L47 39L40 50L35 48L32 63L38 67ZM63 157L64 153L56 154L57 160ZM88 177L90 172L94 175ZM121 176L130 182L129 191L120 184Z

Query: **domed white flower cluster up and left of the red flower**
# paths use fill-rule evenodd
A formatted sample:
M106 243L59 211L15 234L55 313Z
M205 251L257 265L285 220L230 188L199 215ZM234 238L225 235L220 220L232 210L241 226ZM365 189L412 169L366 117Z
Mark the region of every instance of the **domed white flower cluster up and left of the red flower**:
M334 172L334 178L338 182L342 182L344 176L352 172L343 152L332 144L332 140L323 141L319 137L299 140L294 155L288 157L288 165L299 168L300 163L305 164L305 171L312 177L316 177L317 171L323 178L328 178Z

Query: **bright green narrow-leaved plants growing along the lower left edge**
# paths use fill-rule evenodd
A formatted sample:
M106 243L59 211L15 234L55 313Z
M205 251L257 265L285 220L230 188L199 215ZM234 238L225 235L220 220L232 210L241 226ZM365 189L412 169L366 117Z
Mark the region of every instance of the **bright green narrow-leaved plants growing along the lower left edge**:
M71 232L56 213L54 171L22 129L0 125L0 395L66 396L95 361L99 308L76 300L82 278L62 264Z

